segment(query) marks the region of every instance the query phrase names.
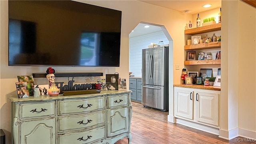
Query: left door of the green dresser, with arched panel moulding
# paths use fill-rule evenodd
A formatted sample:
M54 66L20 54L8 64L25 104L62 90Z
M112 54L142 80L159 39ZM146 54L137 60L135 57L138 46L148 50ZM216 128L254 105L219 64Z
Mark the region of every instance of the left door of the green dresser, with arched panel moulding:
M55 118L20 123L21 144L55 144Z

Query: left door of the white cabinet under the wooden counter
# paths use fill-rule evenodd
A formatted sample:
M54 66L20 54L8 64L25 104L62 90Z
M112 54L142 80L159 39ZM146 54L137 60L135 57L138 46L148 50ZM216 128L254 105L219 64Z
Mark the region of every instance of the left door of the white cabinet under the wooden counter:
M193 119L193 95L192 90L174 87L174 116Z

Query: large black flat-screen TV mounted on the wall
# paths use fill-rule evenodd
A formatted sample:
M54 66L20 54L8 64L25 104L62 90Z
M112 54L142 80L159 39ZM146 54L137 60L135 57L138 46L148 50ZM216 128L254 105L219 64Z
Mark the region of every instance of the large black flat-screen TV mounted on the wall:
M9 66L114 66L122 12L71 0L9 0Z

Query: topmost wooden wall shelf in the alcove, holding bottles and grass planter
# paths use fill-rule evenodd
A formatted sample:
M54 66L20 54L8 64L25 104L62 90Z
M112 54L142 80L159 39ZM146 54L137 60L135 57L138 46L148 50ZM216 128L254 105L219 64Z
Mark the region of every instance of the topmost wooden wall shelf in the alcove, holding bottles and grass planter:
M194 34L202 34L206 32L213 32L217 30L221 30L221 23L211 24L208 26L201 26L198 28L191 28L191 29L185 30L184 32L185 34L194 35Z

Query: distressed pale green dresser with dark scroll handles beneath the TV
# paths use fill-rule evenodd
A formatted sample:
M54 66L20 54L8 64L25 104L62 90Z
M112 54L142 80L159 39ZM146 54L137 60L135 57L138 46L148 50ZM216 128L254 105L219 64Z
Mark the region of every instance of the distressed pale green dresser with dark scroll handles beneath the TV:
M8 97L13 144L131 143L131 91L75 96Z

